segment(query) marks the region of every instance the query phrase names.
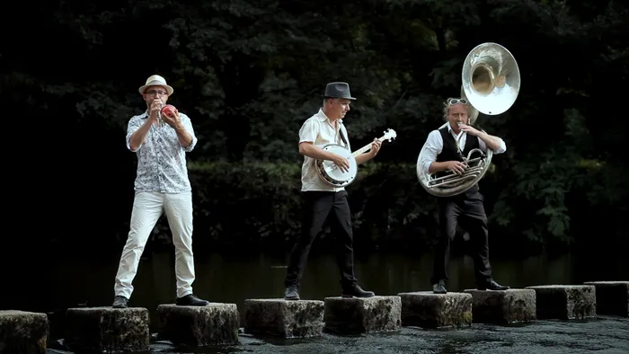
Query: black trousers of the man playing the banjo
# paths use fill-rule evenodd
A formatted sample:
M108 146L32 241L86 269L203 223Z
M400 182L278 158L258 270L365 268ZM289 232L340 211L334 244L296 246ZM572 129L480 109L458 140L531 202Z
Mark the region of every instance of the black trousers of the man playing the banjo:
M284 285L286 287L299 285L306 268L310 246L314 238L322 231L323 223L328 220L336 241L341 286L350 286L356 278L354 277L353 234L347 191L304 191L302 202L304 208L302 232L290 252Z

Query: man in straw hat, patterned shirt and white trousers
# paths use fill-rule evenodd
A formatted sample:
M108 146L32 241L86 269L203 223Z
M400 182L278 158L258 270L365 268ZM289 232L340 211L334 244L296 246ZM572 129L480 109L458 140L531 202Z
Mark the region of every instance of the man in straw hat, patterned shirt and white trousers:
M208 301L192 294L192 196L185 154L197 144L197 137L187 115L176 109L172 116L160 113L173 94L173 87L166 84L164 77L150 76L138 91L146 102L146 111L129 120L126 138L127 148L137 155L136 195L112 306L128 306L140 256L163 212L175 247L176 304L208 305Z

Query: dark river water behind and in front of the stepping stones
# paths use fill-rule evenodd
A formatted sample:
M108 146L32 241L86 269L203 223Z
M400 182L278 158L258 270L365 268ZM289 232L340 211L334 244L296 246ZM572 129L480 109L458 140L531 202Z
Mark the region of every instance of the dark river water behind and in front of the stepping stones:
M57 312L77 305L111 305L114 276L120 253L87 256L67 252L50 255L37 274L21 274L29 283L30 296L16 296L8 304L13 309ZM616 254L616 253L613 253ZM622 254L622 252L621 252ZM196 252L198 296L212 302L235 303L243 308L247 298L280 297L286 256L268 254L226 254ZM506 261L509 255L494 255L494 278L512 288L545 284L581 284L589 280L627 280L629 261L612 253L557 257L539 255ZM399 253L356 256L360 284L377 295L430 289L432 256ZM454 257L450 264L448 290L474 287L473 261ZM175 277L173 252L146 252L140 262L131 306L151 311L155 332L155 307L173 303ZM339 273L332 254L312 254L302 281L301 296L323 299L339 296ZM37 301L32 301L35 298ZM4 304L6 307L7 304ZM242 317L241 313L241 317ZM51 328L51 337L61 333ZM168 343L154 342L153 352L174 351ZM629 320L599 317L585 322L539 321L524 326L474 324L472 328L425 331L403 328L401 332L342 337L325 334L312 340L280 341L241 335L241 345L229 348L194 350L199 353L629 353ZM49 350L49 353L62 352Z

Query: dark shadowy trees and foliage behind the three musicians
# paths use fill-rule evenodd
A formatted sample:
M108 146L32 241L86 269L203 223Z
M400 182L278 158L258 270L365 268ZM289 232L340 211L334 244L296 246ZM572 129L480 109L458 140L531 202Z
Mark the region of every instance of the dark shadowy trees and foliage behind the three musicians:
M27 182L38 210L22 224L29 243L120 252L137 166L127 123L146 109L137 87L159 74L199 137L188 155L195 248L292 244L301 217L298 129L325 84L345 81L357 97L344 119L352 146L397 132L348 188L357 248L428 249L437 220L417 156L443 122L442 102L460 93L467 53L492 41L516 58L522 83L509 111L477 120L508 147L480 182L492 249L629 245L629 123L618 89L629 71L626 2L16 6L28 16L4 36L0 89L22 131L37 130L17 145L37 149L23 155L36 172L22 179L39 179ZM163 218L151 247L169 236Z

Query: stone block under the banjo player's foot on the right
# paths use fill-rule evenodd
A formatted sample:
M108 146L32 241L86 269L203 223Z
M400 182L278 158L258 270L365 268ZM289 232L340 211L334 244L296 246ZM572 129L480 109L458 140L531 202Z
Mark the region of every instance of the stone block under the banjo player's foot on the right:
M393 332L402 327L400 296L325 297L324 329L339 334Z

